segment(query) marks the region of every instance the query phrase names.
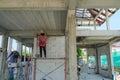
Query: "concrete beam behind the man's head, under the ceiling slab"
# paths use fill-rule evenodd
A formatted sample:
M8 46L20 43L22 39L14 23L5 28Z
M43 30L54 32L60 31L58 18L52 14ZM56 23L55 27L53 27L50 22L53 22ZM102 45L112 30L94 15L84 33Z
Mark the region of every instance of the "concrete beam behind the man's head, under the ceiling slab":
M64 31L60 31L60 30L54 30L54 31L46 30L45 32L48 36L64 35ZM15 30L15 31L9 31L9 36L34 37L38 33L40 33L40 30Z

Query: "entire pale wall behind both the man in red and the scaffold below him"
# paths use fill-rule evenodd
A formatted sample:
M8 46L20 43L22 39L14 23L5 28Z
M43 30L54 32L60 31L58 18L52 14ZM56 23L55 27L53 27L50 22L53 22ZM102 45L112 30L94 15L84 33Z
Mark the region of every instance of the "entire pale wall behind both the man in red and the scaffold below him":
M65 59L58 58L65 58L65 36L48 36L46 52L46 59L37 59L36 80L42 80L43 77L46 80L64 80ZM40 54L39 47L37 54ZM32 72L34 72L34 68Z

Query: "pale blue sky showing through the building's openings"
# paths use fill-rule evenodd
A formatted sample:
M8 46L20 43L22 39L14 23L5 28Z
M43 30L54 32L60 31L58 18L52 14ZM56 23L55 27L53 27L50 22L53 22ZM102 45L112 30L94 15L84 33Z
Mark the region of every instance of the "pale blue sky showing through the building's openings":
M109 19L110 24L110 30L120 30L120 10L118 10L114 15L112 15ZM106 22L100 26L97 27L97 30L106 30ZM0 36L0 47L2 46L2 36ZM17 43L15 40L13 40L13 49L17 49Z

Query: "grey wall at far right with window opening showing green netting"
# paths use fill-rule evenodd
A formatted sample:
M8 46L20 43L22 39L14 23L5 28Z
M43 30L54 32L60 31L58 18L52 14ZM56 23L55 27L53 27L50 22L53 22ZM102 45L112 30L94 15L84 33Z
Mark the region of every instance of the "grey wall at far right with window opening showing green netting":
M111 68L110 68L111 64L110 64L110 57L109 57L109 54L110 54L109 45L98 47L97 51L98 51L99 73L104 77L111 78L112 73L111 73ZM104 55L104 54L107 56L108 70L104 70L104 69L101 68L100 56Z

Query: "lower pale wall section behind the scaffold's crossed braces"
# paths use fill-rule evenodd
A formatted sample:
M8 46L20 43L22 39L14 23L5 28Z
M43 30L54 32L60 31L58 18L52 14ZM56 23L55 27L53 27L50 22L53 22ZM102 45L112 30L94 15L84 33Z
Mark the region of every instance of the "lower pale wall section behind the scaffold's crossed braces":
M64 59L37 59L36 80L65 80Z

